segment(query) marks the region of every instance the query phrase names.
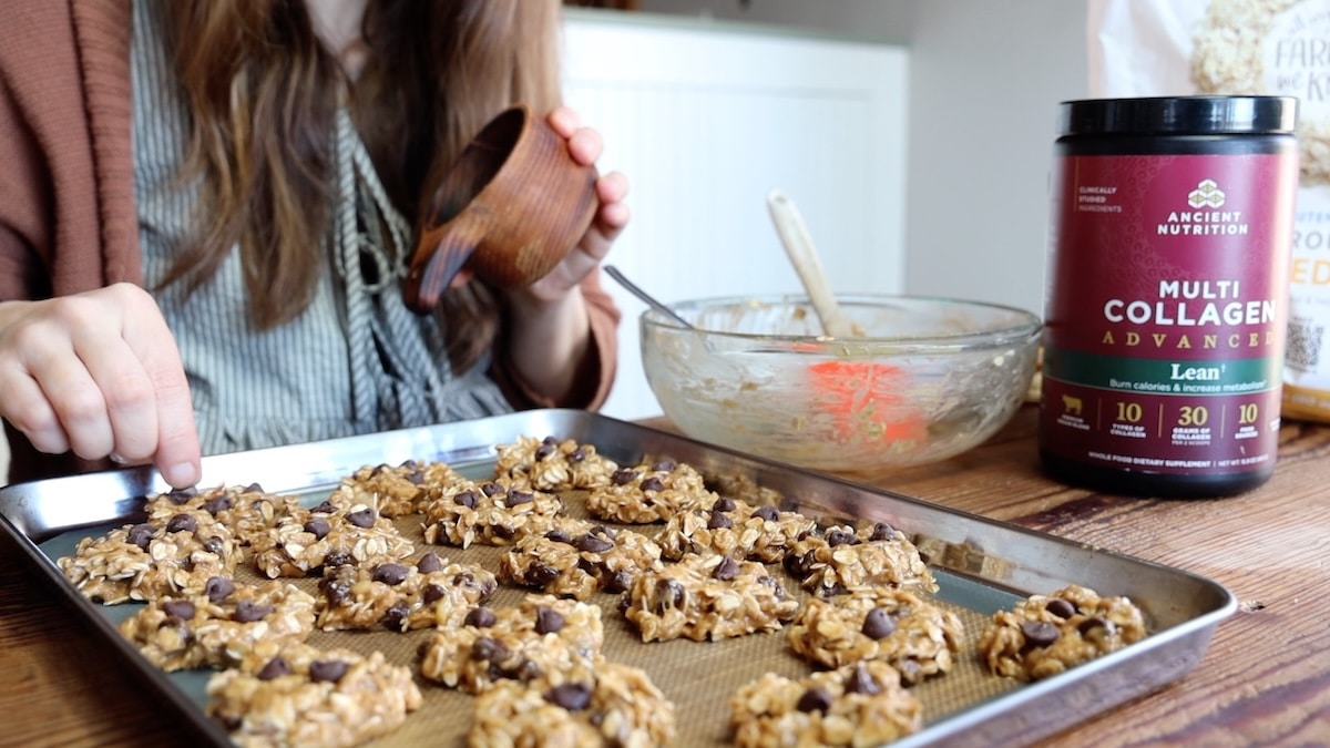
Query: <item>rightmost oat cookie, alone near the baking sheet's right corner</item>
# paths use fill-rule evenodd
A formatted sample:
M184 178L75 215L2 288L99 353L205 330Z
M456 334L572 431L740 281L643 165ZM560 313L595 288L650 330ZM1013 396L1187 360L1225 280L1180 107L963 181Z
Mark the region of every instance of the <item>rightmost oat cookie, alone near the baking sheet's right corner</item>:
M1039 680L1148 634L1144 614L1129 599L1101 598L1072 584L994 614L979 639L979 656L994 675Z

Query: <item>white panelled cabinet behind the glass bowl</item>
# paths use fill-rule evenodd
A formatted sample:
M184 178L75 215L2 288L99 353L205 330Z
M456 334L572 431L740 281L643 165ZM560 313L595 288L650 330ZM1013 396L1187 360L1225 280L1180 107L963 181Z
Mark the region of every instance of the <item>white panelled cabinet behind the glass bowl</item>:
M798 291L766 210L783 189L842 291L903 290L903 48L641 13L568 12L565 96L630 182L608 262L662 301ZM624 309L605 413L656 415Z

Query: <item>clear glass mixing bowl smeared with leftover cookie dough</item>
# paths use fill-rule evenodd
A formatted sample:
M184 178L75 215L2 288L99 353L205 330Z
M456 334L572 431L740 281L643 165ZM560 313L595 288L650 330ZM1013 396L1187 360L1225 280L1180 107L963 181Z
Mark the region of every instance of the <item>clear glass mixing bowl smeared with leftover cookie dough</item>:
M842 295L854 339L821 335L805 295L648 309L642 365L661 409L704 442L841 474L934 462L1003 427L1035 371L1041 322L950 298Z

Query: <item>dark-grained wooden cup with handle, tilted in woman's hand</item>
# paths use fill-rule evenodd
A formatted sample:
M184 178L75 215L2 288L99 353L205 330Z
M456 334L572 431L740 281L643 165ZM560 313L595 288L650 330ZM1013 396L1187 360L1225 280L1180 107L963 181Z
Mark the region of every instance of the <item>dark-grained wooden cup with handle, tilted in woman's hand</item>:
M524 105L501 112L431 198L403 281L407 306L432 310L463 266L504 287L549 273L591 226L596 178L544 118Z

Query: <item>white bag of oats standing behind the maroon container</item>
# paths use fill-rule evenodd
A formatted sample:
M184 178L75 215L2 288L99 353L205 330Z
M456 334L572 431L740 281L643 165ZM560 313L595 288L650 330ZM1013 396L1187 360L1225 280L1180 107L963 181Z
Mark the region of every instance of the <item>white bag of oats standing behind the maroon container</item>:
M1298 98L1285 418L1330 422L1330 0L1089 0L1091 96Z

